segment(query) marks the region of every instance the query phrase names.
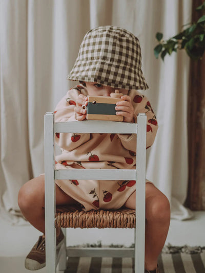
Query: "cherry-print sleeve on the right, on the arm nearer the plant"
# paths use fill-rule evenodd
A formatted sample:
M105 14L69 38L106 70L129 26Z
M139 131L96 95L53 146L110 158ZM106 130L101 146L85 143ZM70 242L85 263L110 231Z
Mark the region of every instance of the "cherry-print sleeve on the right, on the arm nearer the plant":
M134 121L137 122L138 113L146 113L147 116L147 139L146 148L152 146L155 140L158 124L155 113L148 98L140 93L135 93L132 97L132 104L134 106ZM122 146L125 149L135 151L136 149L136 134L118 134Z

